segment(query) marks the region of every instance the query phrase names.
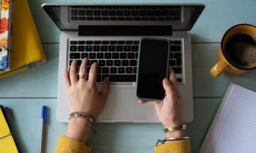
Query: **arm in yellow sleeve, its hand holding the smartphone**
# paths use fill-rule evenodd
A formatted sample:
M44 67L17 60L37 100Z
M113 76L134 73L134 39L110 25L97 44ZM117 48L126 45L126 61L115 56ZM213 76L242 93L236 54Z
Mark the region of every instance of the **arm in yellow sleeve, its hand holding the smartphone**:
M174 71L170 68L170 75L168 79L164 79L163 87L165 88L166 96L163 101L154 101L157 109L157 114L164 128L178 127L182 125L181 116L181 95L176 85L176 76ZM151 101L139 100L139 103L148 103ZM165 133L166 138L184 137L184 130L175 130ZM181 141L165 141L165 144L155 147L156 153L181 153L190 152L189 140Z

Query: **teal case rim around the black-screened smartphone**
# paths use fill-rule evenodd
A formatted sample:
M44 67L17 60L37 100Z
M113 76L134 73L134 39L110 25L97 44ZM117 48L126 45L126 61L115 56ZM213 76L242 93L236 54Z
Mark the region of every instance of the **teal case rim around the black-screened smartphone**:
M167 39L144 37L144 38L140 39L140 46L141 46L141 42L143 41L143 39L165 41L168 44L168 50L170 50L170 42ZM168 52L168 57L167 57L167 64L166 64L166 70L167 71L166 71L165 78L167 78L168 74L169 74L169 58L170 58L170 51ZM163 100L163 98L162 99L152 99L152 98L145 98L145 97L139 97L138 96L138 73L139 73L139 71L140 71L140 47L139 47L139 55L138 55L138 70L137 70L137 76L136 76L136 82L137 82L137 85L136 85L136 96L137 96L138 99L146 100L146 101L159 101L159 100Z

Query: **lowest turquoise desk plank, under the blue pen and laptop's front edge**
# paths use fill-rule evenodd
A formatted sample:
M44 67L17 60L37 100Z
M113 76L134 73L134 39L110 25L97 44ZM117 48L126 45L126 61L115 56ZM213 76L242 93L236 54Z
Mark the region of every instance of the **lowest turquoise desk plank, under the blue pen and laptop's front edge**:
M192 152L219 103L219 98L196 98L195 119L188 124L187 136L192 138ZM67 124L56 120L56 98L0 98L0 104L12 109L12 132L21 152L38 152L41 128L41 106L48 106L48 125L45 133L45 152L54 152L59 136ZM88 144L93 152L148 153L154 152L157 139L163 138L161 124L97 124L97 134L91 133Z

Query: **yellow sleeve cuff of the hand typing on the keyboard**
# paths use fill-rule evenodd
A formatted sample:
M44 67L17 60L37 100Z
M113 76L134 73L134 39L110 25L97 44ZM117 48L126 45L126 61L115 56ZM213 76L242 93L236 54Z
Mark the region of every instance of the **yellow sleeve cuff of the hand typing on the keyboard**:
M65 136L59 137L56 153L90 153L91 146L86 146Z

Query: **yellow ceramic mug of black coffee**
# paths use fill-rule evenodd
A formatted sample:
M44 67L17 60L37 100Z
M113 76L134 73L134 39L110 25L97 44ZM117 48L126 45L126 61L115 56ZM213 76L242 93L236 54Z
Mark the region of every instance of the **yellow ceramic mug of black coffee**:
M256 48L256 27L248 24L239 24L227 30L222 38L221 46L217 50L217 64L211 68L211 76L217 77L226 71L229 74L244 74L255 68L255 64L244 63L241 56L246 48Z

